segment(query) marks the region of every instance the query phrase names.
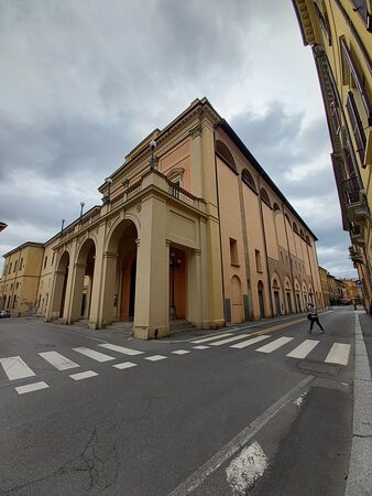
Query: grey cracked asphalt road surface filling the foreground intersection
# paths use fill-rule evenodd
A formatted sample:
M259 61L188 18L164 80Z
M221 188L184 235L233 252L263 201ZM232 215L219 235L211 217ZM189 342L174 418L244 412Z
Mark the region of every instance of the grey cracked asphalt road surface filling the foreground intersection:
M221 344L1 320L0 494L343 495L353 311L320 319L325 335L295 315Z

